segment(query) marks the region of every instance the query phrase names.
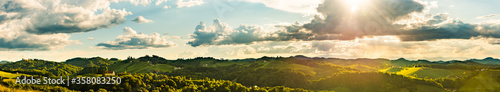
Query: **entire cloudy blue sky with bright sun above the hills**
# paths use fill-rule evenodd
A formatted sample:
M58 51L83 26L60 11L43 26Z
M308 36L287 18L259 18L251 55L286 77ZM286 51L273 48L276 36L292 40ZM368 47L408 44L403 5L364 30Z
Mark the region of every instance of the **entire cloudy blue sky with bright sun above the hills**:
M500 57L498 0L1 0L0 60Z

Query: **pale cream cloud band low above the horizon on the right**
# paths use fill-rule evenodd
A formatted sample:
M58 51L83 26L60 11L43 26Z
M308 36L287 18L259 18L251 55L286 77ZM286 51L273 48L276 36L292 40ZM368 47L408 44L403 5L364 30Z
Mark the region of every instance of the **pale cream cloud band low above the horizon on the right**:
M330 58L407 58L466 60L500 57L497 38L443 39L436 41L404 42L395 36L374 36L351 41L281 41L258 42L250 45L219 45L208 48L206 55L214 57L261 57L306 55Z

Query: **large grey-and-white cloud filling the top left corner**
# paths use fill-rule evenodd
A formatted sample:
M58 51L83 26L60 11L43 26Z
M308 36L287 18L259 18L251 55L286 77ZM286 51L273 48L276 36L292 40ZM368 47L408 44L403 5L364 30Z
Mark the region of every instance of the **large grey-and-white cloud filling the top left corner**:
M4 6L0 10L5 12L0 13L0 16L7 16L5 21L25 20L23 21L25 23L22 23L25 26L22 31L33 34L54 34L109 28L123 23L124 16L131 14L125 10L97 7L106 5L101 3L105 2L82 2L82 6L79 6L63 1L4 1L0 2L0 5ZM101 9L101 13L96 14L96 9Z

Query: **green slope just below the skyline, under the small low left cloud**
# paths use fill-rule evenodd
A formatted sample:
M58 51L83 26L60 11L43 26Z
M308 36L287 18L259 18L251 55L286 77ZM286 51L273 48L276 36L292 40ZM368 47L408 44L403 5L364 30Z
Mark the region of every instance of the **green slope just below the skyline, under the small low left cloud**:
M171 72L174 66L167 64L151 65L148 62L119 62L108 67L108 71L129 72L129 73L150 73L154 71Z

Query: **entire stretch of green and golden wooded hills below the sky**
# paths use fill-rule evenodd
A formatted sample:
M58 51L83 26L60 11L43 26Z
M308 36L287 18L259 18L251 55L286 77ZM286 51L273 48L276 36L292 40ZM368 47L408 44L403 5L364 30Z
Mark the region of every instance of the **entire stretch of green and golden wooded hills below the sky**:
M492 61L497 59L484 60L412 61L301 55L167 60L146 55L125 60L101 57L73 58L65 62L28 59L0 64L0 69L37 77L103 76L106 71L114 71L117 73L114 76L122 78L122 84L66 86L20 85L3 77L2 85L8 88L41 91L500 91L500 66ZM478 81L487 82L478 84Z

